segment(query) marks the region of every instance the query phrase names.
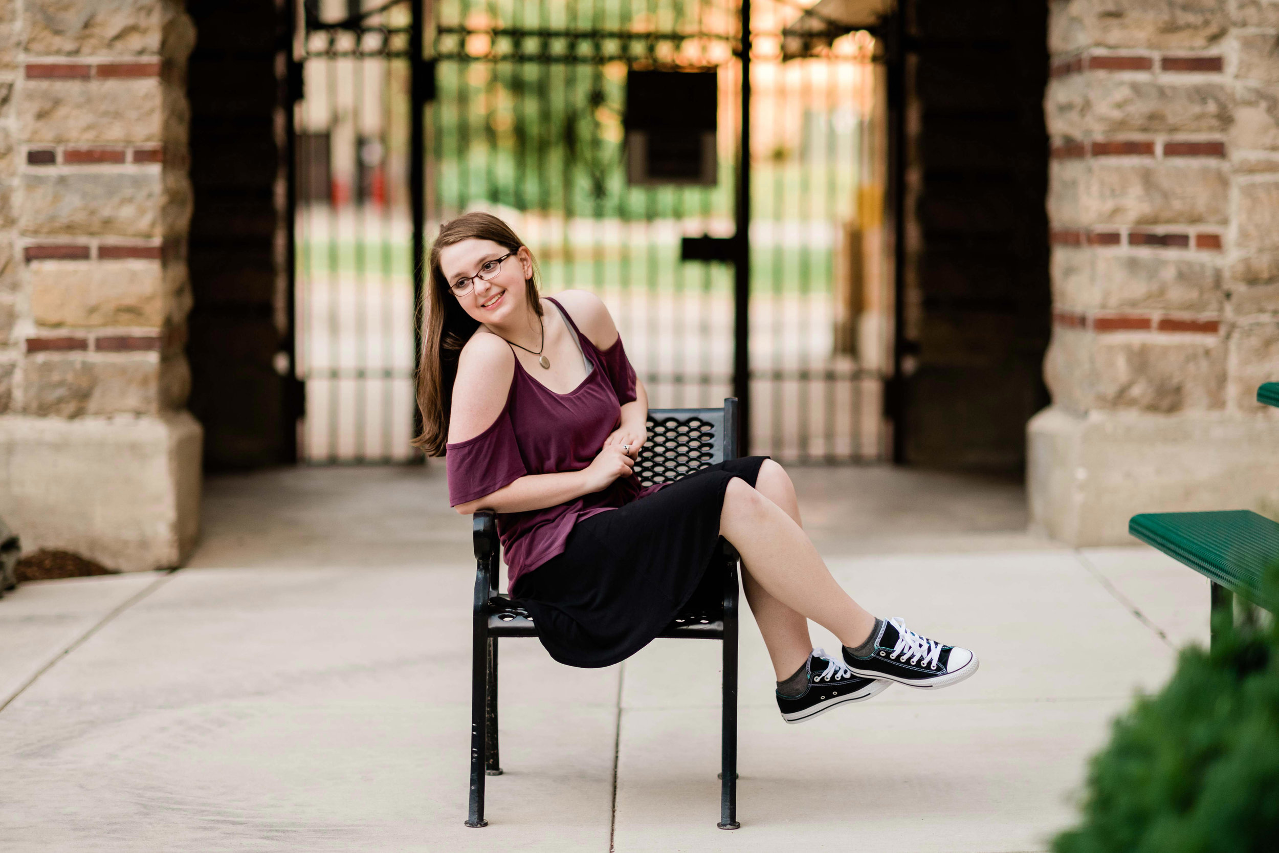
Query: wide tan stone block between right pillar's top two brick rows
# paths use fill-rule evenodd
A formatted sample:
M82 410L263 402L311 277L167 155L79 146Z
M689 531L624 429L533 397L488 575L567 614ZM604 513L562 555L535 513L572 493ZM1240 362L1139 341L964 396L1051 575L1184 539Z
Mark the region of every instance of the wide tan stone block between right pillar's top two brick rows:
M1110 73L1054 79L1045 98L1049 133L1221 133L1230 127L1230 91L1220 83L1155 83Z

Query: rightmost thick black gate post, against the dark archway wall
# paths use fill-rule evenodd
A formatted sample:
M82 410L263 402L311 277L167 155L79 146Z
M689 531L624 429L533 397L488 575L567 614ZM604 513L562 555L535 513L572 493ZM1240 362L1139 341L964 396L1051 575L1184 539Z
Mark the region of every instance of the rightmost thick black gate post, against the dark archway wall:
M889 379L889 417L893 418L893 462L906 462L906 4L886 28L889 180L893 187L893 376Z

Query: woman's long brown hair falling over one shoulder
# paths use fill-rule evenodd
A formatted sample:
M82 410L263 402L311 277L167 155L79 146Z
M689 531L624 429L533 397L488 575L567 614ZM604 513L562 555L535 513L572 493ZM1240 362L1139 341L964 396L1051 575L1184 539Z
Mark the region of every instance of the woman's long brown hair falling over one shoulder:
M430 272L426 283L426 341L422 361L417 367L417 408L422 411L422 435L413 445L428 457L444 453L449 440L449 416L453 409L453 382L458 376L458 356L480 326L449 290L449 283L440 269L440 251L462 240L492 240L518 252L523 242L510 230L510 225L492 214L464 214L440 226L431 244ZM542 303L537 298L537 263L533 274L524 279L528 304L538 317Z

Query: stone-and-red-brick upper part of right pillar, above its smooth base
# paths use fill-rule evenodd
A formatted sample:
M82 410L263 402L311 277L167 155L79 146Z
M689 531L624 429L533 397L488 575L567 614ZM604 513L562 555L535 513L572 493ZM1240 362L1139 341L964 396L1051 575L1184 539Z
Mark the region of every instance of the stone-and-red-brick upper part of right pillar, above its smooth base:
M1264 414L1279 1L1055 0L1049 49L1054 403Z

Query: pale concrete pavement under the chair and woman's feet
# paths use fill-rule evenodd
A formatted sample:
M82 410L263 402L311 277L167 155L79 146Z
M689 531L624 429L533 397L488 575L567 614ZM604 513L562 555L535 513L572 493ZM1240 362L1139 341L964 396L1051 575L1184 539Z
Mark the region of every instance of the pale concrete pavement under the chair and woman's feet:
M912 524L900 482L859 471L796 472L831 570L981 671L789 726L747 616L735 833L719 648L687 641L602 670L504 641L506 772L463 827L466 519L439 468L299 469L214 481L193 568L0 601L0 850L1044 850L1108 721L1206 641L1206 586L1147 549L998 529L1018 522L998 483L946 512L949 481L902 486L931 489ZM902 535L840 545L858 506L851 533L881 512Z

